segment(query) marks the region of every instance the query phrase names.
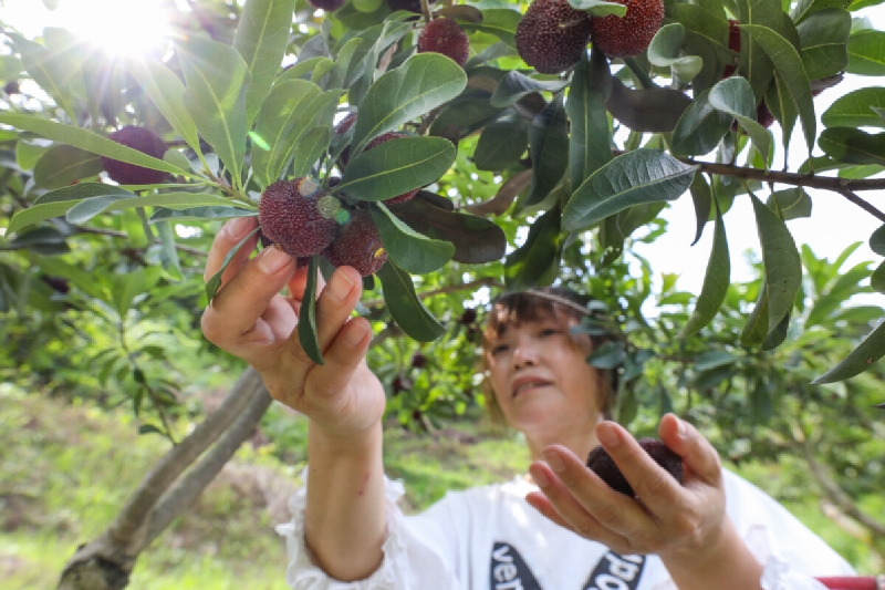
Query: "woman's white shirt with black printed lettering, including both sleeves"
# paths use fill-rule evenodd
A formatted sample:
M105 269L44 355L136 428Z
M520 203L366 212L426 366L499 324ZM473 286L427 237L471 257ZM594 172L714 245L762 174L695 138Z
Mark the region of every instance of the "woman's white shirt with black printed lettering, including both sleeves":
M770 496L728 470L723 480L726 509L764 565L764 590L825 590L813 577L854 575L844 559ZM532 508L525 495L535 489L518 478L449 491L425 513L404 516L396 505L403 486L388 480L384 560L365 580L341 582L311 561L303 537L302 488L290 499L292 521L277 527L287 538L287 581L293 590L583 590L593 588L587 583L598 562L623 579L635 573L629 556L606 558L604 545ZM603 582L600 590L634 588L611 576ZM647 556L636 590L677 588L660 559Z

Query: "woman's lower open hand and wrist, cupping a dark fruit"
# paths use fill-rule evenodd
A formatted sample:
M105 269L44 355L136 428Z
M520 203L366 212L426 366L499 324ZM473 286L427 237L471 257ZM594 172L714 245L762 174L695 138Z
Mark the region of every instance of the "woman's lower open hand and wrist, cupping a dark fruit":
M637 497L613 490L585 458L552 445L544 451L545 462L530 468L541 487L527 497L534 508L618 553L659 556L680 589L759 588L762 568L726 514L719 455L694 426L667 414L658 428L683 460L681 485L622 426L604 422L596 434ZM729 561L738 571L726 566ZM729 583L720 584L720 575Z

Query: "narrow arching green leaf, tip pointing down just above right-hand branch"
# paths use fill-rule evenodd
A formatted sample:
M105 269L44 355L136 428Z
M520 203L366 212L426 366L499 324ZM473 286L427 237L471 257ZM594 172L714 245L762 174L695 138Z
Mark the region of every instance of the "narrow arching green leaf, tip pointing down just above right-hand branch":
M795 48L783 37L766 27L742 24L741 29L748 31L753 40L758 41L768 56L774 63L778 76L783 81L784 87L799 111L799 120L805 134L809 152L814 147L816 133L816 118L814 103L811 96L811 83L802 65L802 59Z

